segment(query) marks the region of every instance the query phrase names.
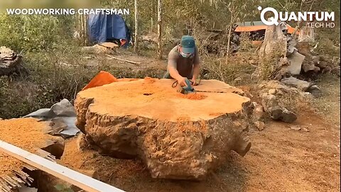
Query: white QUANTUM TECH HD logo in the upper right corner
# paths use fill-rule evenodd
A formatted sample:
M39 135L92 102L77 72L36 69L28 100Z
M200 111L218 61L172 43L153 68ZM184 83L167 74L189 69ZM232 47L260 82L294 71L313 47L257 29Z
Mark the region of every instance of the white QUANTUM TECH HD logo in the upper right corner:
M272 7L266 7L262 9L261 6L258 7L258 10L261 11L261 21L267 25L278 26L280 22L278 21L335 21L335 12L327 12L327 11L304 11L304 12L278 12L276 9ZM269 20L266 20L265 14L271 12L274 14ZM307 25L309 25L308 23ZM320 23L323 24L323 23ZM328 23L327 23L328 24ZM329 23L330 24L330 23ZM332 23L334 24L334 23ZM331 25L332 26L332 25ZM335 24L332 26L334 27Z

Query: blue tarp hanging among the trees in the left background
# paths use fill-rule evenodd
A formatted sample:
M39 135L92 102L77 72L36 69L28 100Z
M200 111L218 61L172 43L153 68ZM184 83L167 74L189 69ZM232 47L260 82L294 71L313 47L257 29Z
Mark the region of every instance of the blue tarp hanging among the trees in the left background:
M93 43L125 39L127 43L124 47L129 45L130 31L122 16L116 14L92 14L87 22L90 41Z

